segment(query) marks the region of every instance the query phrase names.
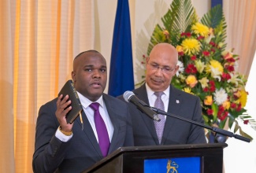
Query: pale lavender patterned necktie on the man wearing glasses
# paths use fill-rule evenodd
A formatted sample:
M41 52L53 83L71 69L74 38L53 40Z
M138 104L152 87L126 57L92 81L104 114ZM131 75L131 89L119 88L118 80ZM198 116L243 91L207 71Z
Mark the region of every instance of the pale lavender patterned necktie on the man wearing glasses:
M157 100L154 102L154 107L165 111L164 102L161 100L161 95L164 94L164 92L155 92L154 94L157 96ZM158 142L161 144L161 138L163 136L165 127L165 116L158 114L158 117L161 119L161 121L154 121L154 127L158 135Z

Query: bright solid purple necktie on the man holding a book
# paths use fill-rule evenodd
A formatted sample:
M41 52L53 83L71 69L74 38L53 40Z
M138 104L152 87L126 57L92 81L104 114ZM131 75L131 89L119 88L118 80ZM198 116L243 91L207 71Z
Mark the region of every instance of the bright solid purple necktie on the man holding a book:
M104 120L102 119L101 114L98 110L99 104L97 102L91 103L90 107L91 109L95 110L95 127L98 134L98 145L102 150L102 155L107 156L109 152L109 134L106 130L106 124L104 123Z

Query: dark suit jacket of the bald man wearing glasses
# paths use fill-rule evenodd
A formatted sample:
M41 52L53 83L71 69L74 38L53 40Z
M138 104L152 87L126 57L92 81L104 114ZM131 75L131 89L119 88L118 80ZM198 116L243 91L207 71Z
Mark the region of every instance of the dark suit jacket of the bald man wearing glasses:
M133 90L137 98L149 105L146 85ZM124 101L122 96L119 96ZM140 112L135 105L128 103L132 117L134 145L159 145L154 121ZM177 90L170 85L168 112L203 123L202 107L198 97ZM204 129L191 123L167 116L161 145L206 143Z

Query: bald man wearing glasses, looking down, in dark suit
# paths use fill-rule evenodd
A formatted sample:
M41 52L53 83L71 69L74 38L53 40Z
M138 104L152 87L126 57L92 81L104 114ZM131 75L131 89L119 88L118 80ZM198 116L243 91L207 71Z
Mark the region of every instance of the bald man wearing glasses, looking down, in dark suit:
M154 46L147 57L146 83L133 93L147 105L203 123L200 99L170 85L179 69L177 61L178 53L172 45L159 43ZM124 100L122 96L118 98ZM132 103L128 105L136 146L206 143L202 127L163 115L159 116L159 123L154 122Z

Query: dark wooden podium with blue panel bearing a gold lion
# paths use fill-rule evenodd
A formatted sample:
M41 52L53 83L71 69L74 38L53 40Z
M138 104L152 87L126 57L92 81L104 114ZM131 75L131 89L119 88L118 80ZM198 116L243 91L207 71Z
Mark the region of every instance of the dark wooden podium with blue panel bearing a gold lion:
M175 159L182 161L183 159L197 158L198 171L196 172L221 173L223 167L223 149L226 146L228 145L225 143L217 143L121 147L83 172L143 173L146 172L145 163L147 161L150 161L150 163L153 161L152 163L154 163L154 160L168 160L168 162L172 163L172 160ZM166 161L166 163L168 162ZM169 171L166 165L164 167L165 172L183 173L183 171L179 170L182 167L177 167L179 161L173 164L173 166L176 165L176 168L169 167ZM191 165L186 165L186 163L184 165L184 167L191 167Z

